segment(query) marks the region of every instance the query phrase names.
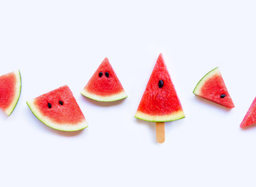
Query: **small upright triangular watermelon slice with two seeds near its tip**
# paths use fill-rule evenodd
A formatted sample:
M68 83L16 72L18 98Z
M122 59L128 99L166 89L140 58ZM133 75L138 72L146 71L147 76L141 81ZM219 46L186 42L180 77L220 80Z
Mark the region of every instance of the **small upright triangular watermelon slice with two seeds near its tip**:
M107 58L99 65L81 94L96 101L117 101L127 97Z

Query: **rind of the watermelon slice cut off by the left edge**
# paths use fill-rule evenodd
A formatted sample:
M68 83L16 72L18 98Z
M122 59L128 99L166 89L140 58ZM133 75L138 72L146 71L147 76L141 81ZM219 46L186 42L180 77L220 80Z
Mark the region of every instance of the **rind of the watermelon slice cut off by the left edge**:
M20 100L20 93L21 93L21 76L20 76L20 70L16 70L14 72L16 76L16 93L15 96L13 97L12 104L9 105L9 108L5 109L5 114L6 115L11 115L16 108L16 105L18 104L18 101Z

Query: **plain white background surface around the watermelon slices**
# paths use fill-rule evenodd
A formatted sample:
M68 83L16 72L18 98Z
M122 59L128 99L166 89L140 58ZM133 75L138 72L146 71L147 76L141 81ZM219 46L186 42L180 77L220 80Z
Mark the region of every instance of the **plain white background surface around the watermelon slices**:
M240 122L255 95L256 2L1 1L0 74L20 69L22 93L0 113L0 186L255 186L256 128ZM162 52L186 118L134 118ZM128 98L102 104L81 89L108 57ZM218 66L236 108L193 95ZM59 132L26 101L67 84L88 128Z

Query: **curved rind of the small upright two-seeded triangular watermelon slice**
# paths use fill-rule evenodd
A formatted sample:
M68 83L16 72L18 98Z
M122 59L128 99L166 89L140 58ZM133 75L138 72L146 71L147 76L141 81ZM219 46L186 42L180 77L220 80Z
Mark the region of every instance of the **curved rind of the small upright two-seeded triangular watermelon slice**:
M124 90L121 91L118 94L111 94L111 95L107 95L107 96L101 96L101 95L97 95L97 94L92 94L90 92L88 92L88 90L82 90L81 93L83 96L88 97L94 101L103 101L103 102L111 102L111 101L119 101L122 99L125 99L126 97L128 97Z

